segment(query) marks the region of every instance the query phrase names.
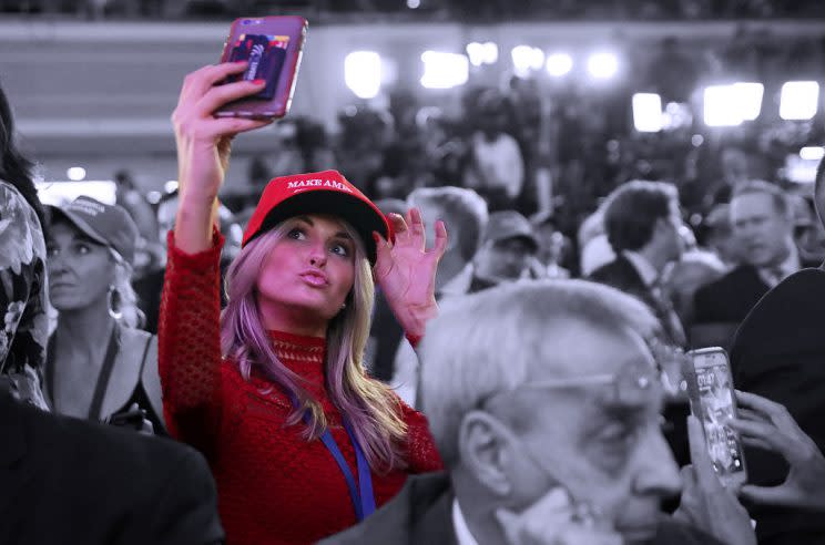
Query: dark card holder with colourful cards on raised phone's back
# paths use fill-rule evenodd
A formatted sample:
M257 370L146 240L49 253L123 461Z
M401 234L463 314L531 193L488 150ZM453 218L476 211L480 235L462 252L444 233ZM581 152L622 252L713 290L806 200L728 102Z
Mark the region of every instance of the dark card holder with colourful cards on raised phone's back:
M286 60L288 35L241 34L232 47L230 62L248 61L243 74L228 78L230 82L264 80L266 86L254 99L269 100L275 96L281 71Z

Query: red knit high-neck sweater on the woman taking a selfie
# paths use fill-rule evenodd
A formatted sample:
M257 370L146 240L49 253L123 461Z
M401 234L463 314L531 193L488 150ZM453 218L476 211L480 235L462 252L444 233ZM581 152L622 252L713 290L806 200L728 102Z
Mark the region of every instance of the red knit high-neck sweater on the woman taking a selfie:
M159 320L159 367L170 432L203 452L218 492L228 544L313 543L356 524L340 469L319 440L285 426L288 399L259 374L243 379L221 358L218 258L213 248L186 255L169 236ZM271 333L278 358L306 379L356 475L355 451L324 388L325 340ZM262 393L266 390L268 393ZM407 473L437 471L441 460L425 417L401 404L409 428L407 471L373 472L376 505L389 501Z

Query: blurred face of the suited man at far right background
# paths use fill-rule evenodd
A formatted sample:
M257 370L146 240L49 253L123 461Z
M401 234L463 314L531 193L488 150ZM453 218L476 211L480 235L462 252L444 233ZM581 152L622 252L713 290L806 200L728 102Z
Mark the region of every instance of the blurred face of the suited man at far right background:
M787 258L791 219L766 193L746 193L731 200L731 224L742 246L745 263L756 267L774 266Z

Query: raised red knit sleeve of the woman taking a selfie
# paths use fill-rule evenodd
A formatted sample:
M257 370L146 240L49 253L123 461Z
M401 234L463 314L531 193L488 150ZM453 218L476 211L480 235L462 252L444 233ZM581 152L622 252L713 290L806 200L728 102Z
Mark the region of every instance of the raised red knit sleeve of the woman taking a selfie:
M167 235L167 263L157 320L157 368L163 412L173 436L208 457L221 414L221 270L224 237L213 230L212 248L177 249Z

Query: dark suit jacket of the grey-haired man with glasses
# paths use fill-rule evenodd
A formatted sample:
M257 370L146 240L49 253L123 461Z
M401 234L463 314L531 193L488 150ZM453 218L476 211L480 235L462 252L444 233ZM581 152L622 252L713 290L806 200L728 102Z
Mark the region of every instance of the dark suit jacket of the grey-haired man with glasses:
M446 473L410 476L398 495L361 524L319 545L457 545L452 527L452 485ZM649 545L721 545L716 539L662 516Z

